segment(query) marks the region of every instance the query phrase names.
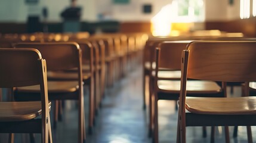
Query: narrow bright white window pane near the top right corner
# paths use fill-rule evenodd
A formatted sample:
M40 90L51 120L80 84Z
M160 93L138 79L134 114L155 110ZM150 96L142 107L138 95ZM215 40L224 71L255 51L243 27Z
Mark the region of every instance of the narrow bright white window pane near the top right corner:
M240 0L240 18L244 19L249 17L250 17L250 0Z

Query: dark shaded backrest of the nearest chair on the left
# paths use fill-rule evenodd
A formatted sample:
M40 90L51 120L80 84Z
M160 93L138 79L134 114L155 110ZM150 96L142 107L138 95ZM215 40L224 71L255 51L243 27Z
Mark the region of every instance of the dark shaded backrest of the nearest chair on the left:
M0 48L0 88L39 85L43 71L40 52L32 48Z

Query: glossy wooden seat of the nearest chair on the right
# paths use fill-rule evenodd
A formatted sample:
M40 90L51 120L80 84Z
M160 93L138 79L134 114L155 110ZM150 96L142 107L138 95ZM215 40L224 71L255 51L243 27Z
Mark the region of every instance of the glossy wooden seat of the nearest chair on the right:
M197 114L256 114L256 97L186 97L186 109Z

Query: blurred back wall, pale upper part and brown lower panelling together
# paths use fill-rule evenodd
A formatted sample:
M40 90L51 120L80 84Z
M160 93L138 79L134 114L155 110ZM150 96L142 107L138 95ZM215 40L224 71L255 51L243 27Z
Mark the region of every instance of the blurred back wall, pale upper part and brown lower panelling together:
M41 15L48 8L48 22L61 30L60 13L69 7L70 0L39 0L38 4L26 4L26 0L0 0L0 33L24 33L28 15ZM99 20L117 20L121 32L150 32L150 19L172 0L129 0L129 4L113 4L113 0L77 0L83 8L81 21L95 23ZM252 1L252 0L251 0ZM144 14L144 4L152 4L152 13ZM227 32L243 32L256 36L256 17L241 20L240 0L205 0L205 22L193 23L191 30L220 29ZM102 18L104 15L104 18ZM242 27L240 25L243 25Z

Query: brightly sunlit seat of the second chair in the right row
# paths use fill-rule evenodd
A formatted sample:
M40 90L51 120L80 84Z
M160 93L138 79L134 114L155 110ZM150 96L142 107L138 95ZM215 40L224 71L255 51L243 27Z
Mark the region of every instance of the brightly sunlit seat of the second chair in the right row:
M167 93L180 93L180 80L158 80L159 91ZM188 94L215 94L221 92L221 87L216 82L207 80L188 80Z

